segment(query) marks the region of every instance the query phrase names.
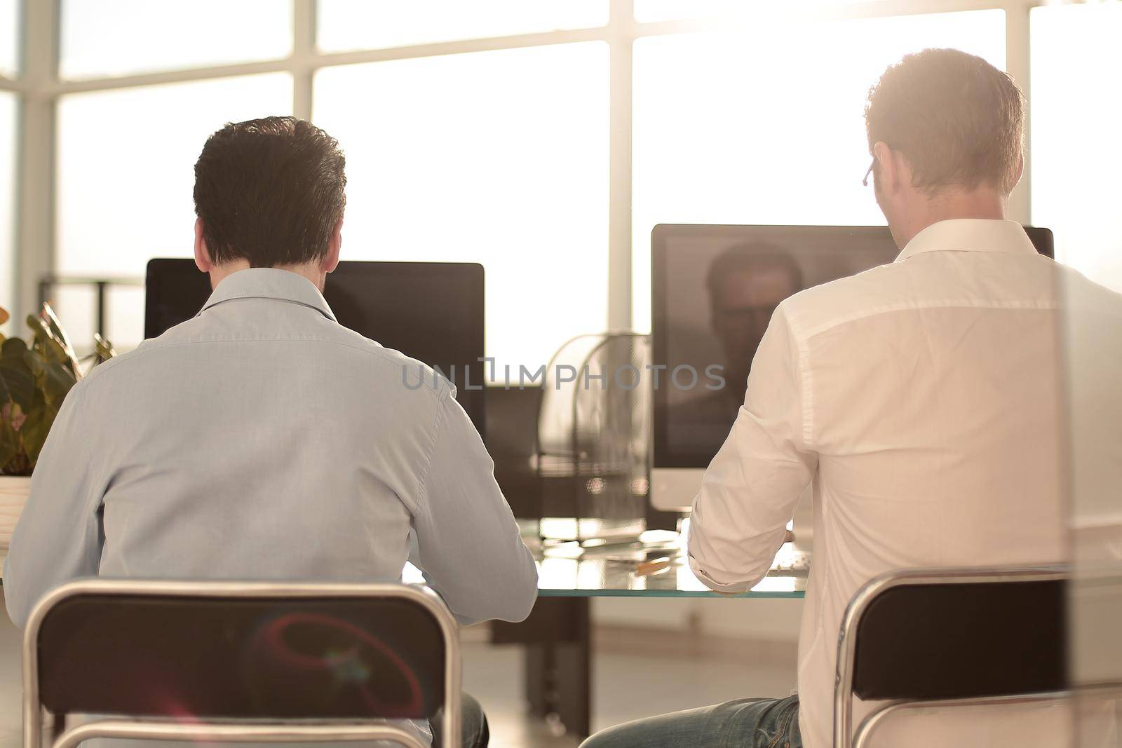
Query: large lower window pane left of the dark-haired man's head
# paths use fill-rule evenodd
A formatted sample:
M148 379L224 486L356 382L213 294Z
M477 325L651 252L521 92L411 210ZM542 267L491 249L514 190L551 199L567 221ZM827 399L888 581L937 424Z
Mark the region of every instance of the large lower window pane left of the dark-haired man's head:
M64 276L144 276L151 257L192 253L194 164L228 121L292 113L285 73L140 86L58 102L56 267ZM92 335L92 290L56 289L77 341ZM109 333L128 348L144 332L142 294L118 289Z

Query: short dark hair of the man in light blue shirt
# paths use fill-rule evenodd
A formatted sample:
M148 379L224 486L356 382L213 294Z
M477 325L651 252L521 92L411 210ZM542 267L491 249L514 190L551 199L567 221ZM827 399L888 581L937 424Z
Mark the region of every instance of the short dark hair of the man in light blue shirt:
M347 202L339 142L295 117L228 122L195 161L195 214L211 260L322 259Z

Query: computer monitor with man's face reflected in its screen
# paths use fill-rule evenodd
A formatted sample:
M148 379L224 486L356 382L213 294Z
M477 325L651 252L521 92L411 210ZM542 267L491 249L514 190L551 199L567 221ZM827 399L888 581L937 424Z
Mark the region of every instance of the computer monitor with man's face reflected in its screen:
M1052 256L1048 229L1026 227ZM748 367L771 313L803 288L892 262L888 227L660 224L651 233L652 357L665 364L654 391L651 502L686 511L701 473L744 401ZM689 364L675 386L670 375ZM706 368L723 366L726 386L706 389ZM714 380L715 381L715 380Z

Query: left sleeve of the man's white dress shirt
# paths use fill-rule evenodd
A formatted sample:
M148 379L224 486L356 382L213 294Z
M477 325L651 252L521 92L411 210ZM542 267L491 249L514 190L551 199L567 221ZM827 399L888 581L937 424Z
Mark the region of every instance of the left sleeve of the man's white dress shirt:
M798 344L780 305L752 361L744 405L709 463L690 516L690 567L718 592L744 592L771 567L818 464L803 432Z

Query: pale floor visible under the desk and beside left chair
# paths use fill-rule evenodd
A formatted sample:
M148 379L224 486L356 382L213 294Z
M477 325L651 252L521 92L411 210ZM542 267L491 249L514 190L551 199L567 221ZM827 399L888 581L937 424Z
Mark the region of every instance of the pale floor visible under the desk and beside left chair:
M785 695L794 684L791 667L747 667L714 659L601 652L594 667L594 729L738 696ZM518 647L466 643L463 686L487 710L496 748L578 745L571 736L558 736L549 724L526 715ZM0 613L0 748L19 744L19 631Z

